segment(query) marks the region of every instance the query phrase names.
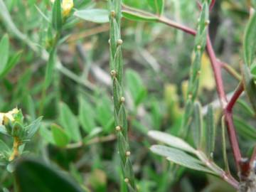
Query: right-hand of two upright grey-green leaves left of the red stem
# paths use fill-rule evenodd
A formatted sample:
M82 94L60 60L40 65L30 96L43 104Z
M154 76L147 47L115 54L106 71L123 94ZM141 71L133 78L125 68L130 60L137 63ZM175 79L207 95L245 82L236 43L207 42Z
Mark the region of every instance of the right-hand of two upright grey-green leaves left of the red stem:
M209 105L206 115L206 156L213 159L213 151L215 148L216 126L214 122L213 105Z

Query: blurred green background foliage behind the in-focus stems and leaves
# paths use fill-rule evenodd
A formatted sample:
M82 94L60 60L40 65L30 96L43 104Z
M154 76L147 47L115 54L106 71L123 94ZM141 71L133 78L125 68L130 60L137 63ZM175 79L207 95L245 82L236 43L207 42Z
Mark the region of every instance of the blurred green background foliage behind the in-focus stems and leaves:
M147 12L155 11L146 0L123 3ZM26 144L22 156L33 156L41 159L43 166L61 170L68 176L67 183L75 182L84 191L127 191L114 128L117 124L109 66L110 25L104 21L91 22L94 17L90 17L90 12L87 20L91 21L74 16L77 10L92 8L107 10L107 1L75 0L60 32L58 21L52 26L53 14L58 13L54 13L51 1L0 1L0 112L18 107L28 124L43 116L38 132ZM239 83L249 10L250 1L220 0L210 12L209 33L215 53L228 63L223 64L222 76L229 98ZM164 16L194 29L200 12L196 1L166 0L164 4ZM176 136L180 132L195 46L193 36L163 23L126 18L122 18L121 36L129 159L139 191L235 191L212 174L174 167L149 149L156 143L148 136L150 130ZM9 68L3 71L4 63ZM230 67L238 71L237 76L225 70ZM213 156L215 163L223 167L222 112L206 53L202 55L198 100L203 105L203 114L213 102L216 126ZM233 112L244 156L252 154L256 140L255 112L249 103L242 95ZM193 131L189 132L186 141L193 144L194 137ZM13 142L12 137L0 134L0 152L6 146L11 150ZM228 142L226 152L230 171L238 178ZM0 161L0 188L5 191L15 188L12 167L12 163ZM21 178L29 178L27 170L17 171L23 173ZM47 176L50 180L51 174Z

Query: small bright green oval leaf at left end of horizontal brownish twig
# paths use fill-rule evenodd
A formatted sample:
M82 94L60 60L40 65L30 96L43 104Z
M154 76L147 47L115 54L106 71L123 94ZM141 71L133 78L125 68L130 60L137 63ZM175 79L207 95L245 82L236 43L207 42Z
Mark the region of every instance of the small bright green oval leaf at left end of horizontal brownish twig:
M57 146L66 146L69 143L70 139L68 134L66 134L65 130L58 126L58 124L51 124L50 128Z

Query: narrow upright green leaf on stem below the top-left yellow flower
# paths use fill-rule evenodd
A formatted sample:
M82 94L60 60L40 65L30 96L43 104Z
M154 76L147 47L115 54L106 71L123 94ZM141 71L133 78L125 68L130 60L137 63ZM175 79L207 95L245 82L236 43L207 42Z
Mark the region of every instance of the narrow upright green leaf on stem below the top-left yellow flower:
M54 66L55 66L55 49L50 51L50 56L48 59L48 63L46 65L46 79L45 79L45 85L44 85L46 88L50 85L53 79Z

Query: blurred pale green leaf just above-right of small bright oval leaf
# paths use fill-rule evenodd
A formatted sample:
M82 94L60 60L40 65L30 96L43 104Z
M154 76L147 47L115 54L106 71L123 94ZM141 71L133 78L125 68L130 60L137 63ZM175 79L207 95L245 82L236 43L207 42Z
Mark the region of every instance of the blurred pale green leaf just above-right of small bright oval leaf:
M78 119L71 112L68 105L64 102L60 103L60 125L65 129L71 140L79 142L81 140Z

